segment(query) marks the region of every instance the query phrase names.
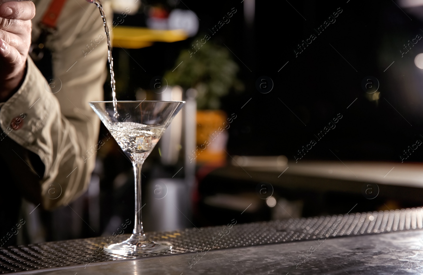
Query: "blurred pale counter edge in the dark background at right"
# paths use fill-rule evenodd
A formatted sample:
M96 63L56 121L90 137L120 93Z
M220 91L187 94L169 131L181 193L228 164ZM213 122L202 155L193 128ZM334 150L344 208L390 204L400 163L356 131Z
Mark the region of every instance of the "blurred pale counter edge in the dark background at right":
M423 177L421 177L422 163L401 163L401 165L398 165L398 162L386 161L345 161L344 163L348 168L339 161L298 161L298 163L291 161L286 166L241 165L242 168L234 164L232 167L223 167L215 172L222 177L236 180L251 180L251 175L253 178L272 182L275 175L279 176L289 166L289 169L286 169L283 175L278 177L278 180L275 180L275 183L297 176L323 180L330 179L416 188L423 187ZM248 174L245 173L243 168ZM316 184L316 182L313 182L313 184Z

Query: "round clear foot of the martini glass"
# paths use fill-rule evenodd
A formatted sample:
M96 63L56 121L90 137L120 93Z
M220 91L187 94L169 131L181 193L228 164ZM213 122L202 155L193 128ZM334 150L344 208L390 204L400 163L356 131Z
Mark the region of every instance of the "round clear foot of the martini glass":
M170 251L172 247L173 245L170 242L151 241L148 240L145 235L135 236L132 234L128 240L107 245L104 247L104 251L120 255L143 255L147 253Z

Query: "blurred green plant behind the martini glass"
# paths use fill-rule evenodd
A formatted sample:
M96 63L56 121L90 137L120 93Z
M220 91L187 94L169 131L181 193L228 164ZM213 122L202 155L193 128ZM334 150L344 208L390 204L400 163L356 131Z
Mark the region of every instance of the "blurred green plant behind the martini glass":
M200 38L194 41L200 41ZM178 68L173 72L167 71L164 78L170 86L195 88L198 91L197 109L219 109L220 98L232 88L237 93L244 90L244 84L236 77L238 64L233 61L228 49L211 41L206 41L200 49L182 50L174 67L178 64Z

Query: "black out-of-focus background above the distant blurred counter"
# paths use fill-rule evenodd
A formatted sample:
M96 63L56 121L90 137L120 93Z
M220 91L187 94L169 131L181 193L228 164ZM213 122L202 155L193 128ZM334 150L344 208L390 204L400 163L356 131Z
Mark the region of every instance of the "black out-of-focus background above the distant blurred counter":
M408 40L423 35L418 17L403 9L405 14L393 1L289 2L301 15L286 1L256 1L254 25L247 27L240 2L187 0L176 5L189 7L197 14L200 37L210 35L208 29L232 8L237 11L210 39L225 44L236 55L233 59L239 64L239 78L245 84L244 93L231 93L222 99L222 109L237 115L229 129L231 155L286 155L294 159L297 150L314 139L317 144L303 159L336 160L332 150L341 160L400 161L403 150L423 139L422 71L414 64L414 57L423 52L423 41L418 41L404 57L400 53ZM144 2L144 9L123 24L143 25L143 11L157 4L169 10L175 8L165 1ZM338 8L342 13L336 21L317 35L314 29ZM316 39L296 57L297 45L311 34ZM127 77L128 88L118 98L135 99L137 87L148 89L150 80L175 68L179 52L191 45L192 38L126 50L137 62L129 59L129 74L121 76ZM115 49L115 63L121 54L126 53ZM119 71L116 75L119 78ZM272 79L270 93L256 89L260 76ZM372 95L361 87L366 76L378 79L379 100L366 97ZM342 119L336 128L318 141L314 134L338 113ZM413 152L407 161L420 161L420 151Z

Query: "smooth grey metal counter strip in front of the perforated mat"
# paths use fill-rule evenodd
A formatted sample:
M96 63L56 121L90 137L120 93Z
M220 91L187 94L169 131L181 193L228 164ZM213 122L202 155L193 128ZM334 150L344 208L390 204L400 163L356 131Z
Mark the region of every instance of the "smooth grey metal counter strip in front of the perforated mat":
M320 245L310 240L215 250L204 252L197 261L193 260L197 253L184 253L41 275L420 275L423 262L420 240L423 231L403 231L328 239ZM299 258L307 254L310 256L301 264ZM196 264L190 265L192 262Z

